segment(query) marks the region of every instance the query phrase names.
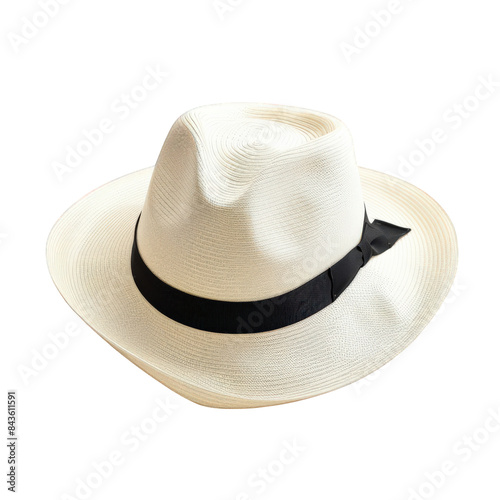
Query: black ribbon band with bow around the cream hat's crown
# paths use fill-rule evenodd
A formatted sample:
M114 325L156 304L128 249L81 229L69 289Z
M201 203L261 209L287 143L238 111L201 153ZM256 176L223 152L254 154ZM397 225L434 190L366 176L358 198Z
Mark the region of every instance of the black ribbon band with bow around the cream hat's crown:
M410 231L381 220L370 222L365 212L361 241L326 271L298 288L270 299L226 302L183 292L153 274L137 247L138 224L139 220L132 248L132 275L141 294L160 313L174 321L217 333L266 332L312 316L335 302L371 257L389 250Z

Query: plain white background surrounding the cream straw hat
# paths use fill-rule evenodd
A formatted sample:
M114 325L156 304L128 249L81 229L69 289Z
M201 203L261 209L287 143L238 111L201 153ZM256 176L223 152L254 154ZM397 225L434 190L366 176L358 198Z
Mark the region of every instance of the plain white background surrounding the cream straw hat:
M500 419L500 87L473 97L481 79L500 82L497 4L225 1L66 0L38 28L27 24L44 24L37 1L3 2L0 404L5 436L6 391L18 391L17 498L83 498L89 478L92 499L500 498L500 423L489 417ZM389 7L380 27L373 12ZM141 93L148 67L169 76ZM131 92L141 102L124 109ZM44 252L59 215L153 165L181 113L227 101L338 116L360 165L423 188L454 221L460 265L443 309L368 379L278 407L204 408L115 352L53 286ZM103 119L112 132L59 180L54 164ZM446 139L432 146L436 128ZM72 323L78 334L59 335L68 340L54 354ZM156 398L177 407L159 424ZM127 433L141 425L149 434L135 449ZM93 463L117 453L100 481ZM444 462L453 473L436 473Z

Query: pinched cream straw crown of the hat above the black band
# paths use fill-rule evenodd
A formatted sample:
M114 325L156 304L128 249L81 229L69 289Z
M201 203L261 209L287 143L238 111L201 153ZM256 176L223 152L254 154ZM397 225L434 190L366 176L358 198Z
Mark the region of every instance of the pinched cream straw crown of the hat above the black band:
M360 240L358 166L345 125L269 104L196 108L172 126L138 226L160 279L210 299L272 298Z

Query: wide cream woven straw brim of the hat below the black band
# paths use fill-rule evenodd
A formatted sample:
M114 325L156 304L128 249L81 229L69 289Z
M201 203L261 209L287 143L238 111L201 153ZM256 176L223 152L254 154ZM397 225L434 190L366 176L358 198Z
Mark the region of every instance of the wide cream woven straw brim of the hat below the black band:
M211 333L176 323L144 299L131 273L134 227L152 172L121 177L74 204L50 233L47 261L59 292L92 329L196 403L269 406L355 382L405 349L452 285L458 250L444 210L415 186L360 168L370 219L411 232L373 257L333 304L263 333Z

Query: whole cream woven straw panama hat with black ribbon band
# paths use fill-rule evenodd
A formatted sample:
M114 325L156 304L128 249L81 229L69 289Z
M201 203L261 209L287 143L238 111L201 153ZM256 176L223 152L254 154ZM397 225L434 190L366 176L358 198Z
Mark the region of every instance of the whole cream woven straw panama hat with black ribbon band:
M47 259L74 311L145 372L248 408L394 358L445 299L457 243L429 195L358 167L337 118L239 103L178 118L154 168L62 215Z

